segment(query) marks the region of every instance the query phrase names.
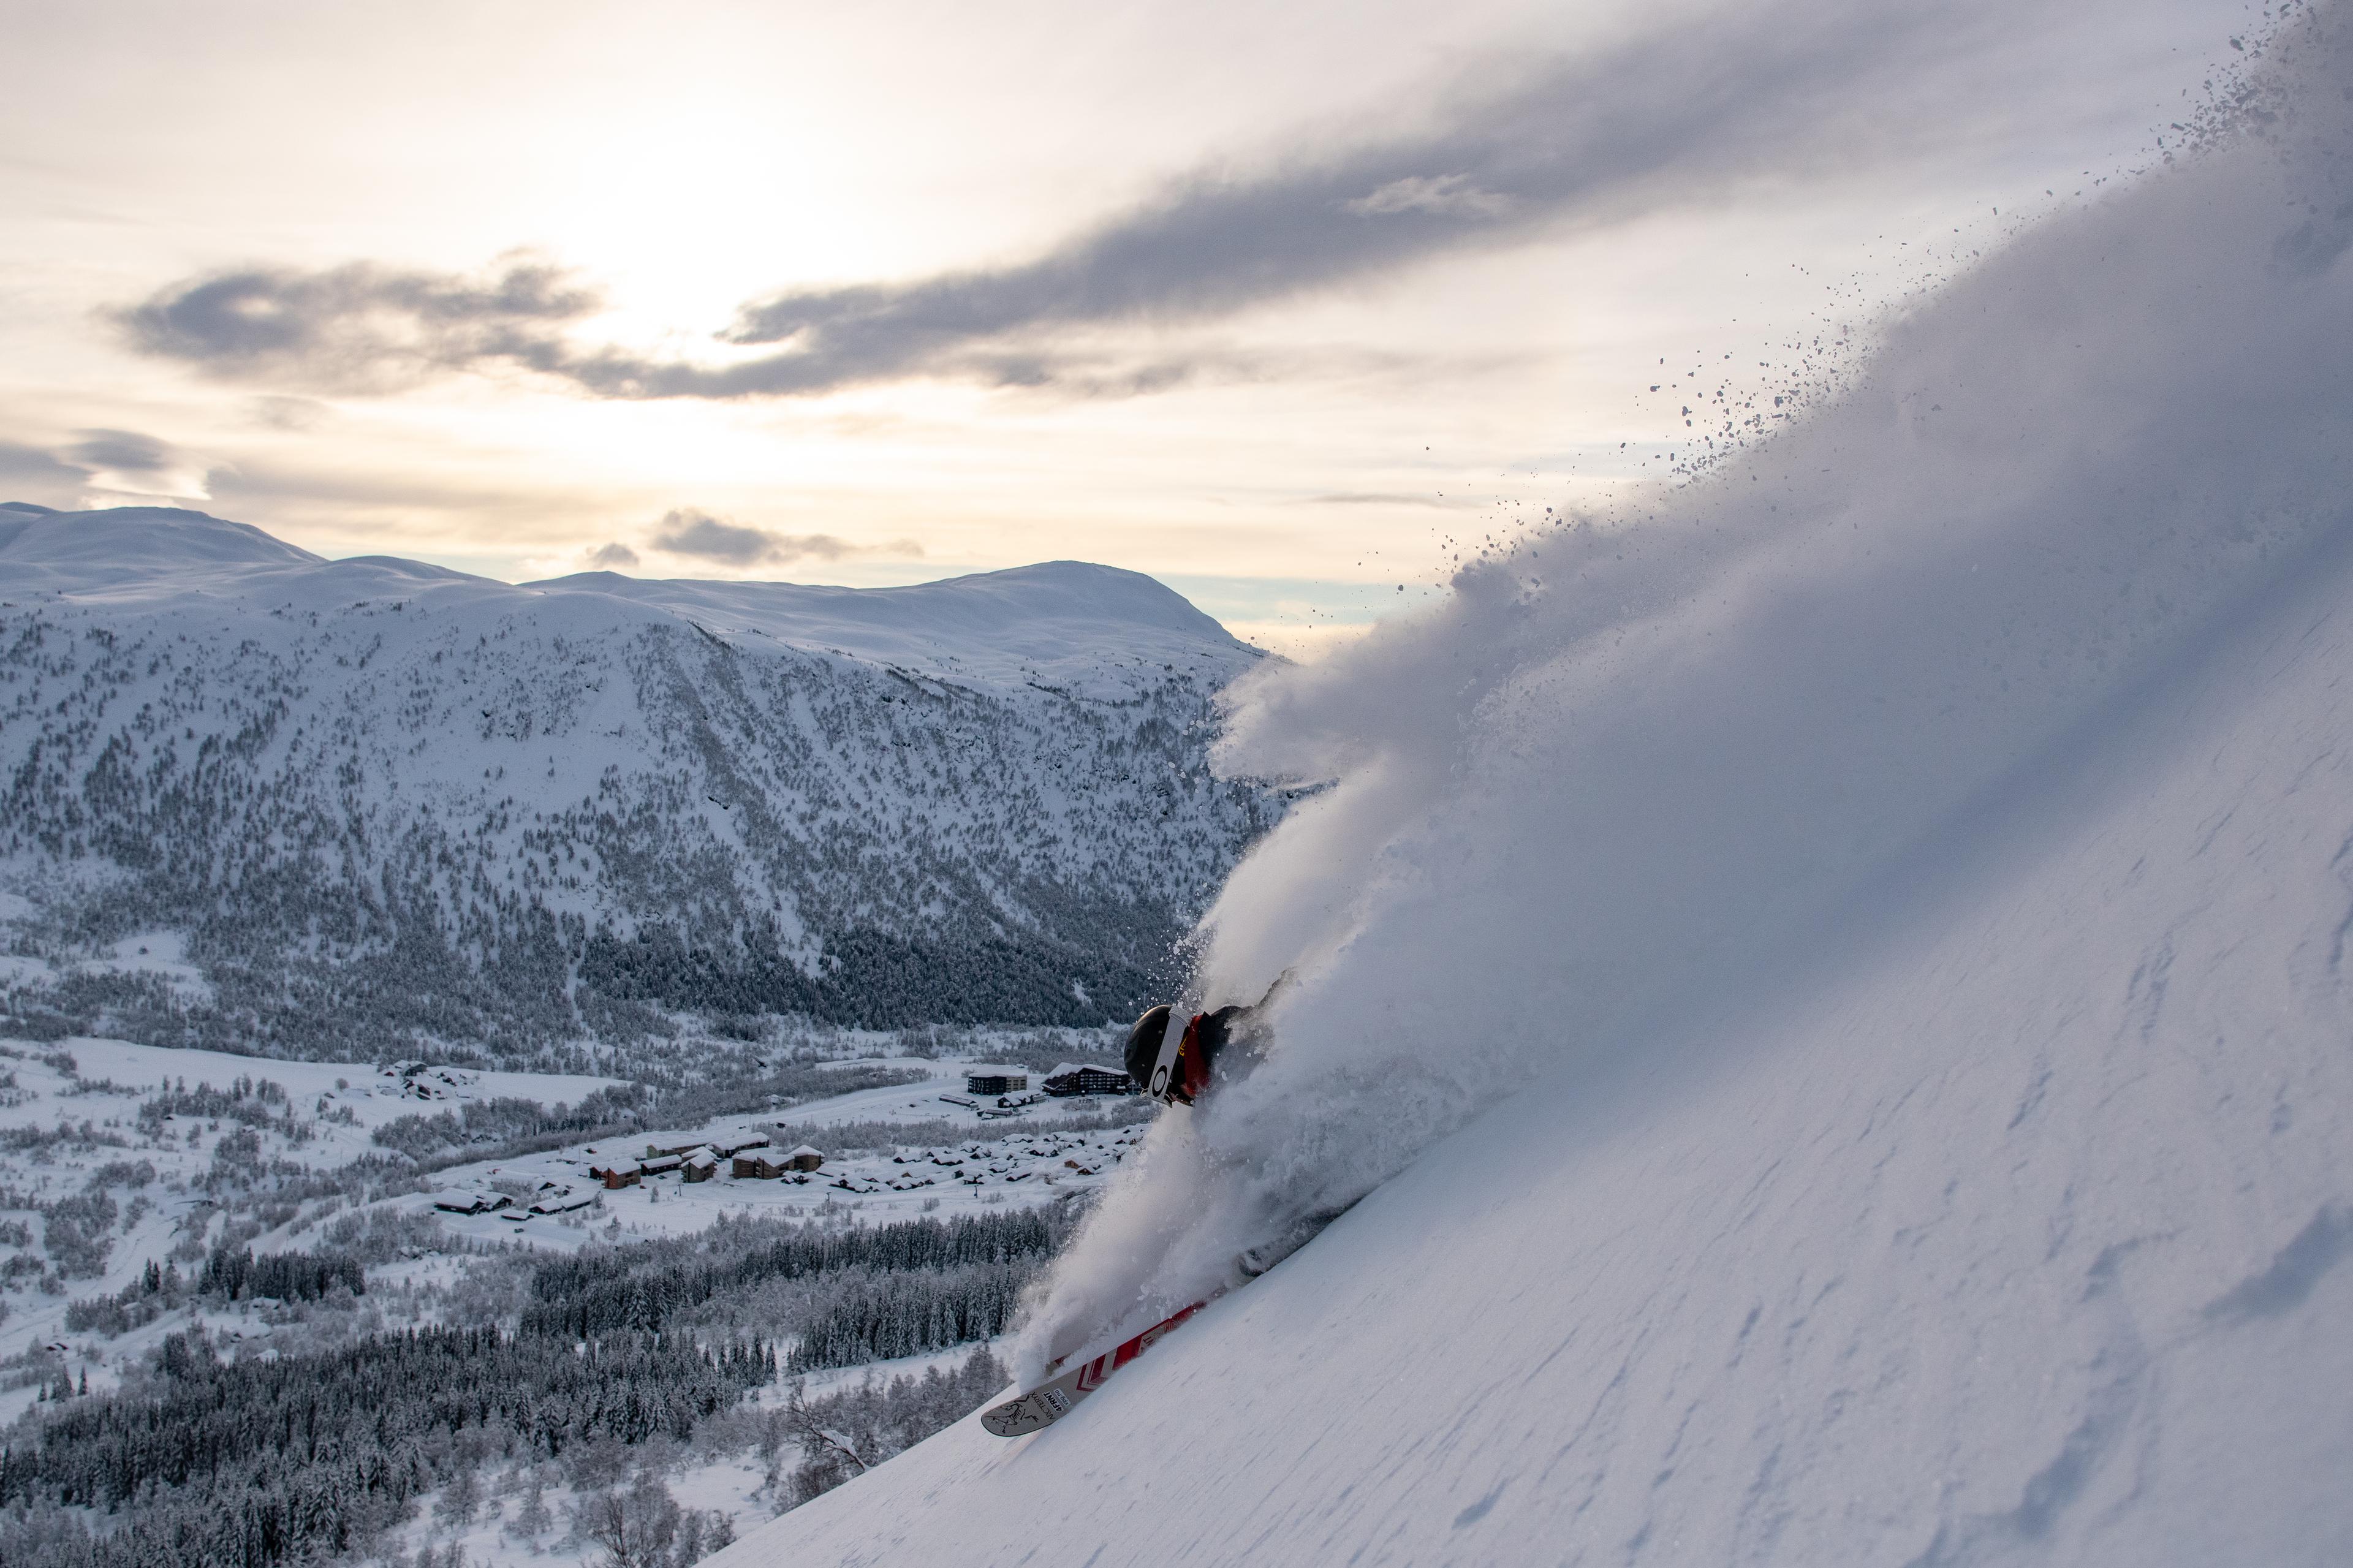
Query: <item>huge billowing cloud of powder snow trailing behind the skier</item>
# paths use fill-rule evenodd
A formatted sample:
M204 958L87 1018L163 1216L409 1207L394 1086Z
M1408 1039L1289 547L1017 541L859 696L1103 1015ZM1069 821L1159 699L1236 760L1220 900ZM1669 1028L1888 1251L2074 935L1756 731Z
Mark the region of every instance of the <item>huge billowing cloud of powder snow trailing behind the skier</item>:
M2353 26L2261 54L1795 426L1231 690L1221 768L1332 784L1200 935L1205 1005L1297 975L1278 1045L1162 1118L1016 1370L1758 984L2353 525Z

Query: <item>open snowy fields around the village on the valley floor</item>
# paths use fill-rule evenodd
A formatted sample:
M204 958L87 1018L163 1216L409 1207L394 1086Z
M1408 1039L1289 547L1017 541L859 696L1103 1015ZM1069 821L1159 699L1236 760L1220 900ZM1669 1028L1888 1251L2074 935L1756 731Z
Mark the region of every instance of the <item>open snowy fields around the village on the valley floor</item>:
M71 1064L71 1076L68 1076ZM965 1092L962 1059L901 1057L880 1062L899 1071L927 1074L922 1083L854 1090L791 1107L772 1116L732 1116L701 1128L638 1132L628 1140L576 1142L546 1154L508 1161L475 1161L433 1170L426 1191L409 1191L379 1203L348 1205L339 1198L289 1205L289 1217L266 1229L247 1227L245 1245L256 1255L320 1245L318 1220L325 1215L365 1217L372 1210L431 1220L431 1231L447 1238L449 1253L433 1250L369 1274L376 1285L447 1285L464 1271L466 1243L504 1248L525 1243L548 1250L579 1250L591 1241L621 1243L649 1236L692 1236L722 1217L835 1217L852 1224L887 1224L913 1217L955 1217L1002 1205L1035 1205L1096 1191L1127 1156L1139 1125L1104 1130L1066 1130L1066 1123L1099 1123L1104 1111L1132 1102L1113 1099L1042 1099L998 1111L988 1097ZM0 1135L45 1135L28 1147L0 1149L0 1227L21 1227L21 1241L0 1241L0 1267L7 1257L26 1264L42 1260L45 1217L33 1203L82 1191L94 1175L146 1165L120 1184L120 1229L111 1234L106 1267L99 1274L64 1281L59 1295L9 1293L7 1318L0 1321L0 1358L31 1347L56 1347L66 1370L92 1375L92 1387L111 1387L113 1368L134 1358L165 1335L191 1321L214 1321L231 1340L266 1337L266 1304L242 1302L228 1311L172 1316L115 1337L68 1333L68 1302L115 1295L155 1264L176 1264L186 1274L198 1248L216 1241L224 1227L245 1210L259 1210L268 1191L214 1191L202 1182L212 1170L224 1137L240 1130L254 1135L254 1158L289 1161L332 1172L362 1156L384 1156L369 1140L376 1128L416 1114L461 1109L475 1099L529 1099L541 1107L579 1102L614 1078L475 1071L421 1064L360 1062L282 1062L235 1057L205 1050L165 1050L127 1041L68 1038L54 1045L0 1041ZM256 1085L245 1107L256 1121L221 1121L202 1116L146 1116L141 1104L165 1090L200 1092ZM271 1085L280 1099L264 1102ZM988 1114L984 1114L988 1111ZM273 1121L280 1118L280 1121ZM776 1121L776 1118L784 1121ZM287 1121L299 1125L287 1132ZM89 1140L47 1137L89 1125ZM816 1172L776 1180L736 1177L732 1161L708 1182L685 1182L678 1170L645 1177L638 1187L607 1191L591 1168L642 1158L649 1149L692 1149L704 1142L746 1144L769 1137L767 1154L786 1149L784 1130L798 1144L812 1130L828 1125L901 1123L920 1132L951 1137L906 1147L868 1147L826 1151ZM101 1175L104 1180L104 1175ZM445 1212L435 1203L447 1194L482 1194L506 1198L501 1212ZM565 1212L529 1212L534 1201L569 1196L579 1208ZM12 1276L14 1278L14 1276ZM33 1398L33 1389L0 1391L0 1417L12 1417Z

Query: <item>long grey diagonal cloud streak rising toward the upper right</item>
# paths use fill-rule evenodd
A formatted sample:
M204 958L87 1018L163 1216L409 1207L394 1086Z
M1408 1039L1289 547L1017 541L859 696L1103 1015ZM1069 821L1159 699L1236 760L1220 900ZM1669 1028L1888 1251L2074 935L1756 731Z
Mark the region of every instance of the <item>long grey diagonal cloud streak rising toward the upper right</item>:
M1904 132L1857 134L1873 82L1915 75L1955 45L1965 24L1953 9L1755 7L1551 61L1515 89L1459 101L1419 137L1195 174L1024 266L758 301L729 341L793 353L727 374L798 391L953 365L1040 330L1219 318L1704 198L1760 170L1882 155ZM1929 101L1915 111L1913 125L1937 120Z

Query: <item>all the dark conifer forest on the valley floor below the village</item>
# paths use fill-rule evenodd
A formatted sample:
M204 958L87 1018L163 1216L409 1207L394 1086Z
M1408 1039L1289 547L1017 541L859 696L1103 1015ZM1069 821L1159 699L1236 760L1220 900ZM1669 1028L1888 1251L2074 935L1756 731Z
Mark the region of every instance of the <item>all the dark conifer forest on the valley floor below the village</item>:
M365 1290L372 1253L358 1220L329 1227L318 1253L219 1245L186 1288L287 1302ZM464 1493L489 1453L574 1464L689 1443L788 1366L993 1337L1071 1229L1059 1208L875 1229L736 1220L694 1238L501 1262L529 1269L515 1328L362 1333L238 1358L202 1330L176 1333L118 1391L59 1387L0 1439L0 1568L287 1568L367 1552L424 1493ZM748 1295L776 1283L805 1295ZM179 1290L176 1274L151 1269L125 1290L132 1307L87 1311L153 1321L148 1309ZM1000 1370L896 1394L878 1384L868 1394L880 1403L842 1413L873 1455L962 1415L995 1382ZM840 1455L802 1453L847 1474ZM781 1500L814 1495L821 1476L776 1481ZM92 1530L75 1509L120 1526Z

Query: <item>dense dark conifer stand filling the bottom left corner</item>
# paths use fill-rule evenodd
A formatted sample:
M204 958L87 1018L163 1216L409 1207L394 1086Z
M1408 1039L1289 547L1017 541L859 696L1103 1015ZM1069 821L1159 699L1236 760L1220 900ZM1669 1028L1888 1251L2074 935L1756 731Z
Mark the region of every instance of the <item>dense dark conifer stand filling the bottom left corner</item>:
M661 1335L574 1347L496 1328L414 1328L282 1358L221 1361L202 1333L165 1340L118 1394L47 1406L0 1450L0 1504L42 1514L38 1556L0 1526L0 1561L42 1568L278 1568L367 1549L414 1497L473 1464L496 1429L541 1457L598 1439L685 1441L769 1382L765 1342ZM56 1507L125 1511L96 1535ZM9 1540L9 1537L16 1540ZM12 1549L14 1547L14 1549Z

